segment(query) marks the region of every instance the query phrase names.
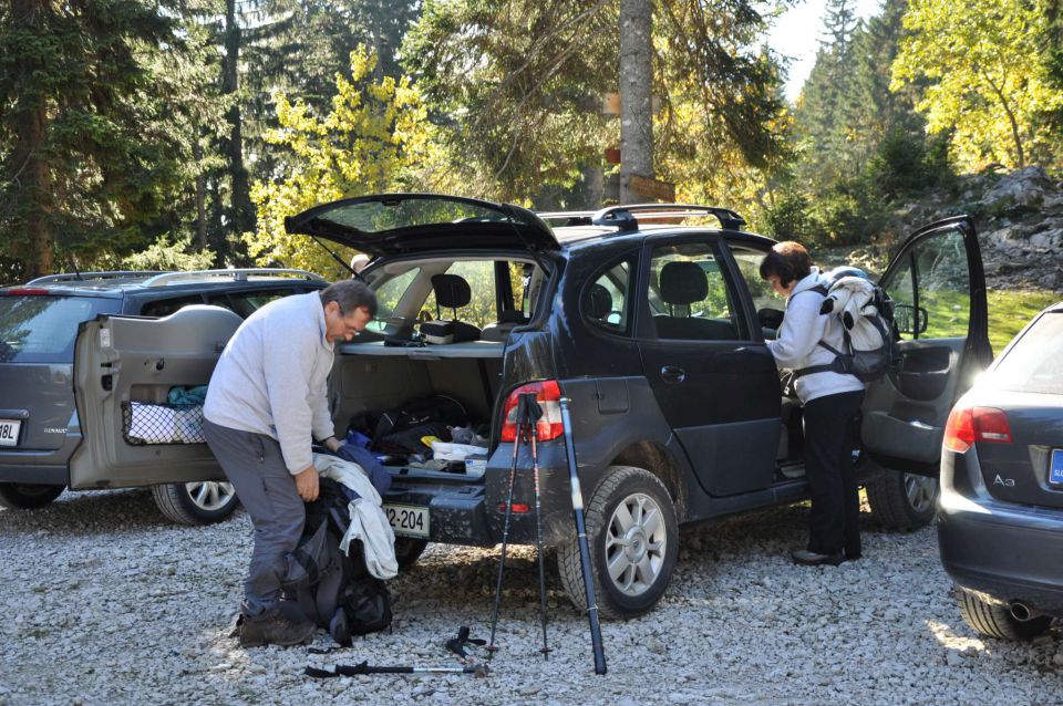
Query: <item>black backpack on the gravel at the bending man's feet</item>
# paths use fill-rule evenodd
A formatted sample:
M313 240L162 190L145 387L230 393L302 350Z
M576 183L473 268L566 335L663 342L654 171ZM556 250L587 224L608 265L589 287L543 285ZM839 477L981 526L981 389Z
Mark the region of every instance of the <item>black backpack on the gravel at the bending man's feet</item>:
M351 542L350 554L340 550L350 526L349 492L331 478L319 479L318 499L307 503L302 537L289 554L292 579L282 586L303 615L343 646L354 635L391 626L391 594L365 568L361 542Z

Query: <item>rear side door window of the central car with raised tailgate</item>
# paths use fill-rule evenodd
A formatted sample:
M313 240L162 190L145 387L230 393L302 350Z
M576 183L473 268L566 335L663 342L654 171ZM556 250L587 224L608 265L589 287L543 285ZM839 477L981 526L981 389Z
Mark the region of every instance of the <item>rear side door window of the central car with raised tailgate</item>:
M647 292L659 339L742 340L727 281L710 245L658 247Z

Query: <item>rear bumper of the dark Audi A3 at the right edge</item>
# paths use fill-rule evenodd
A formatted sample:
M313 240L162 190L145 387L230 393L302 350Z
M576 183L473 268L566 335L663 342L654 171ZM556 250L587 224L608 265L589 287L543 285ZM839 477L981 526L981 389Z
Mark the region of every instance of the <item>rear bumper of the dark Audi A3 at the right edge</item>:
M1063 513L942 489L938 546L960 586L1063 616Z

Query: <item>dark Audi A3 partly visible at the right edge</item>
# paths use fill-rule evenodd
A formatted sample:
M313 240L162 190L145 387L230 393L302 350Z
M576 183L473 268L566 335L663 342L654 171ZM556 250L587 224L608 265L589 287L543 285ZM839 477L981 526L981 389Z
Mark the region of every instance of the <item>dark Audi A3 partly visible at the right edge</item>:
M963 620L1030 640L1063 617L1063 303L949 415L938 538Z

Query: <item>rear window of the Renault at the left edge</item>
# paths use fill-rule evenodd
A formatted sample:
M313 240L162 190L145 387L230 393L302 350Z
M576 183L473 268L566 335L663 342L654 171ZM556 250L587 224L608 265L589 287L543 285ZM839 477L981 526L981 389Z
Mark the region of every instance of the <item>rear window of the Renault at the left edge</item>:
M0 297L0 363L70 363L78 324L121 304L92 297Z

